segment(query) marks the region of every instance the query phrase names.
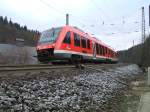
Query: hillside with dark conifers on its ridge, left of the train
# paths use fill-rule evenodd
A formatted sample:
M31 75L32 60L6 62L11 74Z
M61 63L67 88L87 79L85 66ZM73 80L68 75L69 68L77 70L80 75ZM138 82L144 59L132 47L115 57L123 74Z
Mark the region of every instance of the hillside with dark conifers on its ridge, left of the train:
M0 43L15 44L16 39L20 38L24 39L25 45L35 46L39 34L38 31L29 30L27 26L20 26L0 16Z

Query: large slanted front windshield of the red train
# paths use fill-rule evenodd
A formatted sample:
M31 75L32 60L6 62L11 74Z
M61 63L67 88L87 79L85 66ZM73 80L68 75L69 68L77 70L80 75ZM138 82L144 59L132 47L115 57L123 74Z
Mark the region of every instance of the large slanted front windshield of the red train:
M61 28L52 28L42 32L38 44L41 43L54 43L60 33Z

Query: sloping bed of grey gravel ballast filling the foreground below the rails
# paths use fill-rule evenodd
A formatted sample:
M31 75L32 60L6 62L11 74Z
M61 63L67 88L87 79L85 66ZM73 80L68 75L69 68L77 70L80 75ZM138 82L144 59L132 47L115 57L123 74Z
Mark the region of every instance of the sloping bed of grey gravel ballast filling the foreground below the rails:
M137 65L112 66L3 73L0 111L124 112L131 82L142 71Z

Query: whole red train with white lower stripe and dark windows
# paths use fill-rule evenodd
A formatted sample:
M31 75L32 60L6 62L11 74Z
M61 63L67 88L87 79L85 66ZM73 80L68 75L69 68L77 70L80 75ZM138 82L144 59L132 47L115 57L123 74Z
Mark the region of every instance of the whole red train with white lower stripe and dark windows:
M63 26L42 32L37 45L40 62L56 60L116 63L117 53L77 27Z

